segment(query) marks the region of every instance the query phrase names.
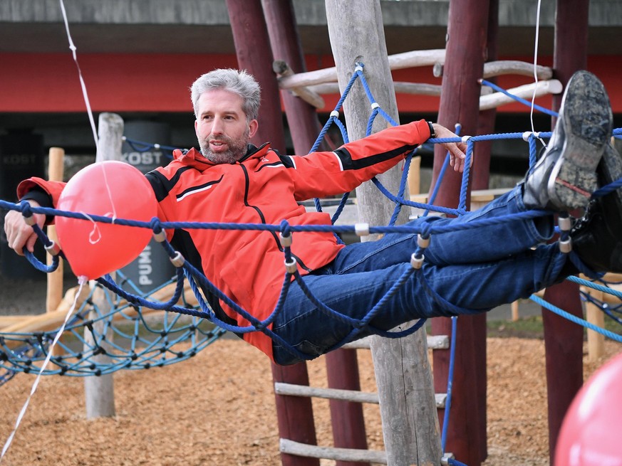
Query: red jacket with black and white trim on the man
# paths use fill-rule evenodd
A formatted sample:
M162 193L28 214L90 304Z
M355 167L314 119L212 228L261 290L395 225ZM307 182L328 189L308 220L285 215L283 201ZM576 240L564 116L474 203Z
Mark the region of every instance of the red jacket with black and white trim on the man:
M264 144L235 164L213 164L195 149L175 150L170 164L146 176L162 221L279 224L285 219L291 225L331 225L328 213L306 212L298 202L352 191L398 164L429 137L427 122L420 120L390 127L334 152L306 156L281 156ZM19 185L18 196L35 185L47 191L56 205L63 184L28 179ZM168 235L173 247L254 317L265 319L274 310L285 276L275 233L189 228ZM331 262L343 248L333 233L298 232L293 239L291 252L302 275ZM249 324L229 307L222 305L222 309L230 322ZM244 339L272 356L271 339L263 333L250 332Z

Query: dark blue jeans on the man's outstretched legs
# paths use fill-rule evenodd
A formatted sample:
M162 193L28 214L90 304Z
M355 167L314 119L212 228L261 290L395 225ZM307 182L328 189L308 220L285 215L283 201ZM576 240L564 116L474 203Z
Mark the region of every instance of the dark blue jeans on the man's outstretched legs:
M464 216L418 218L409 224L430 221L435 227L455 226L524 211L522 186L517 186ZM413 319L486 312L529 297L559 280L564 263L559 247L552 244L532 248L549 240L553 233L552 216L547 216L432 234L424 251L423 268L408 277L370 324L389 330ZM361 319L411 268L410 256L416 249L417 235L390 233L377 241L347 245L335 260L302 280L331 309ZM434 293L453 306L442 305ZM294 282L272 329L304 354L319 356L353 327L327 316ZM369 333L363 331L357 337ZM273 349L277 364L299 361L284 346L274 343Z

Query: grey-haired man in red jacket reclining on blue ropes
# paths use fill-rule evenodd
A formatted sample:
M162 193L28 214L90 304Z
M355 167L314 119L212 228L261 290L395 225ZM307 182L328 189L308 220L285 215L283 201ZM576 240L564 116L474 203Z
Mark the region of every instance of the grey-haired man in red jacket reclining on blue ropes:
M249 144L258 125L259 85L247 73L214 70L202 75L192 85L192 104L201 152L176 150L170 164L146 175L162 221L274 224L286 220L294 226L330 225L328 214L307 213L299 201L351 191L398 164L430 136L455 137L448 129L421 120L334 152L281 156L269 144L259 148ZM618 243L622 190L591 200L598 186L622 177L622 160L608 144L611 127L603 85L590 73L576 73L566 88L554 136L522 183L479 211L411 224L434 232L530 209L543 209L543 216L482 224L477 230L432 233L423 268L392 291L370 327L356 337L419 317L485 312L578 272L558 245L541 244L554 233L555 212L587 211L571 232L581 267L622 270ZM454 169L462 171L465 144L444 145ZM62 187L33 178L20 184L18 194L34 205L51 206ZM31 249L33 234L21 214L11 212L6 218L11 248L17 253L24 245ZM43 224L45 218L39 215L37 221ZM250 314L244 318L204 290L220 319L249 327L249 319L261 322L274 311L285 277L284 247L276 234L178 229L167 235L192 265ZM294 364L330 351L356 331L356 322L410 270L416 248L415 234L393 233L378 241L344 246L329 232L296 233L291 254L303 284L291 282L283 308L266 328L240 329L240 333L277 364ZM323 305L310 300L306 288ZM341 316L327 315L324 306Z

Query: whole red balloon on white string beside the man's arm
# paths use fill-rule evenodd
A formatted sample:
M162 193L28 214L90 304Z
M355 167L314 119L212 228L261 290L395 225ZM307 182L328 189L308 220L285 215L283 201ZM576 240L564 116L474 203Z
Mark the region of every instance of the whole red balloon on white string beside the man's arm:
M146 222L157 213L149 181L121 161L97 162L78 171L63 189L56 208ZM88 280L128 265L152 237L150 228L62 216L56 217L56 231L73 273Z

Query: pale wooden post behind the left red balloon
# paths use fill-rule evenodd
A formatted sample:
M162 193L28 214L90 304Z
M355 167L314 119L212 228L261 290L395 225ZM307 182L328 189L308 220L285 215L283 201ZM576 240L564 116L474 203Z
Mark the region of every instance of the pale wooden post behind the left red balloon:
M98 152L95 161L120 160L121 159L121 137L123 137L123 119L114 113L101 113L98 125ZM95 282L90 282L91 288ZM93 305L98 307L102 314L110 311L110 304L105 299L105 291L100 287L93 291ZM96 319L98 314L90 312L89 319ZM93 333L101 334L105 330L104 322L93 323ZM112 338L108 332L106 339ZM84 329L85 349L94 343L93 334L85 327ZM102 345L106 349L108 345ZM105 364L110 361L110 357L105 354L92 356L91 360L95 364ZM112 417L115 415L115 388L113 374L101 376L90 376L84 378L84 392L86 398L86 418Z

